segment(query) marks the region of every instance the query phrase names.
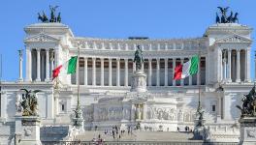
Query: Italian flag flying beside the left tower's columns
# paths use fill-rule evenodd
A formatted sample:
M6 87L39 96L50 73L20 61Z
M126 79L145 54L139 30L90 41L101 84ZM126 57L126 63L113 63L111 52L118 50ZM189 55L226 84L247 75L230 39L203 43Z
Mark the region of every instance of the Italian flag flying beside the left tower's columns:
M52 80L58 76L60 72L67 74L76 73L78 56L72 56L67 62L58 66L52 71Z

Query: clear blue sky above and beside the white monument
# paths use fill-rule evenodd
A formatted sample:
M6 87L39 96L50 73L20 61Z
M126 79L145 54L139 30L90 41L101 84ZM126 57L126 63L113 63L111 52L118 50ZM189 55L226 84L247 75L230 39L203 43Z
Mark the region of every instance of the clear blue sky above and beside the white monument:
M208 26L214 23L217 6L231 7L240 13L241 24L256 28L255 0L6 0L0 3L2 80L18 78L17 49L24 48L23 28L37 22L38 12L44 10L48 13L50 4L60 6L57 11L61 12L63 23L80 37L202 37ZM254 38L255 32L253 41ZM253 53L254 48L255 43Z

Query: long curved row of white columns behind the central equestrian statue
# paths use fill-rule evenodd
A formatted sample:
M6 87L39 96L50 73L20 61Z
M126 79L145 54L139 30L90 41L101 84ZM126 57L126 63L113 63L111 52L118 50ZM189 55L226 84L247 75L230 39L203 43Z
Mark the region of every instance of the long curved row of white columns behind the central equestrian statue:
M199 85L200 84L199 73L197 74L197 76L194 76L196 77L196 80L194 81L192 81L192 76L189 76L187 84L184 83L184 79L181 79L178 81L173 79L176 65L180 63L183 64L186 61L188 61L188 58L144 59L142 70L144 70L144 73L147 74L147 85L148 86L177 86L177 85L183 86L183 85L196 85L196 84ZM132 59L128 59L128 58L120 59L120 58L80 57L80 64L83 64L83 68L80 68L80 75L82 75L83 73L83 78L80 76L80 78L83 79L83 85L129 86L130 85L129 81L131 81L131 78L129 76L131 76L132 73L135 72L135 63L133 62ZM162 70L164 69L164 71L163 72L160 71L161 69ZM121 72L123 75L120 74ZM91 77L88 76L89 73ZM108 73L107 74L108 76L105 73ZM155 73L155 75L152 75L152 73ZM164 75L162 75L162 73L164 73ZM106 79L105 77L108 77L108 78ZM115 78L112 78L112 77L115 77ZM163 77L164 77L164 81L161 81ZM90 79L91 81L89 81L88 79ZM97 79L99 81L97 81ZM155 80L154 82L153 82L153 79ZM170 79L172 79L172 82L170 82ZM115 82L112 82L113 80ZM162 82L161 84L160 84L160 81ZM78 84L78 82L75 82L75 81L72 81L72 82L73 84L75 83Z

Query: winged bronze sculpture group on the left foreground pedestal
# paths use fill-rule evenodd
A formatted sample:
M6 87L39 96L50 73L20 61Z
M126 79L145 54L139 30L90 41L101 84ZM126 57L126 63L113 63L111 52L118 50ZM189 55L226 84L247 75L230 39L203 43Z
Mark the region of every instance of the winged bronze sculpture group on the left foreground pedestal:
M26 90L25 95L21 97L21 99L17 99L16 101L16 111L21 112L22 116L38 116L37 105L38 99L36 97L36 93L41 92L40 90Z

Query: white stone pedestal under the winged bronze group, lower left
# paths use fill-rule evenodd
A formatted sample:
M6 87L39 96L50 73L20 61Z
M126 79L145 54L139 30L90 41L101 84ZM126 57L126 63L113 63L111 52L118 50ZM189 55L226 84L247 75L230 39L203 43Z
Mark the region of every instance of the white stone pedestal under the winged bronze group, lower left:
M40 119L37 116L16 116L16 143L41 145Z

